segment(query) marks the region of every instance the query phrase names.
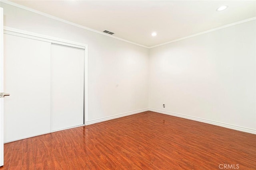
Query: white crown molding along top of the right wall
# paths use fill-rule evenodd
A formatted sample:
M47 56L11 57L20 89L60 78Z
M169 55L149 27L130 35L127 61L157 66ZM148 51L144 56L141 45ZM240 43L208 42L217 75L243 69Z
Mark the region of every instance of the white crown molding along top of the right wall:
M228 25L223 25L221 27L217 27L217 28L214 28L214 29L210 29L210 30L207 30L207 31L203 31L203 32L200 32L200 33L196 33L196 34L193 34L193 35L189 35L187 37L182 37L182 38L179 38L179 39L174 39L172 41L168 41L166 43L162 43L162 44L158 44L158 45L154 45L154 46L151 46L151 47L148 47L149 49L152 49L154 47L159 47L159 46L162 46L162 45L166 45L166 44L170 44L170 43L173 43L173 42L176 42L176 41L180 41L180 40L183 40L183 39L188 39L188 38L191 38L191 37L196 37L198 35L202 35L202 34L205 34L205 33L210 33L210 32L213 32L213 31L217 31L219 29L223 29L223 28L226 28L226 27L231 27L233 25L238 25L240 23L245 23L245 22L249 22L249 21L253 21L253 20L256 20L256 17L253 17L253 18L249 18L249 19L246 19L246 20L242 20L242 21L238 21L238 22L235 22L235 23L230 23Z

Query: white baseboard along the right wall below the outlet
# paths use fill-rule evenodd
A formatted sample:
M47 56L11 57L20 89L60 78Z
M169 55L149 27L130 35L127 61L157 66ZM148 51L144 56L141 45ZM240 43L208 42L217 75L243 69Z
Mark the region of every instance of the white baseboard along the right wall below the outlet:
M230 124L227 124L227 123L222 123L222 122L218 122L218 121L212 121L212 120L208 120L208 119L202 119L202 118L194 117L194 116L182 115L182 114L173 113L173 112L170 112L170 111L163 111L163 110L152 109L152 108L149 108L148 110L149 111L154 111L154 112L157 112L157 113L166 114L166 115L172 115L172 116L176 116L176 117L182 117L182 118L185 118L185 119L190 119L190 120L194 120L194 121L208 123L208 124L211 124L211 125L217 125L217 126L221 126L221 127L226 127L228 129L234 129L234 130L237 130L237 131L242 131L242 132L256 134L256 129L250 129L250 128L246 128L246 127L230 125Z

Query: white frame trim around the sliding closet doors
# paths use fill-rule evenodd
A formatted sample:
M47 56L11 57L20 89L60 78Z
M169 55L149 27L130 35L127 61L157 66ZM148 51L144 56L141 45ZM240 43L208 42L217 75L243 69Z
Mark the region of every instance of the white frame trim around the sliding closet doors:
M49 42L49 43L84 49L84 125L85 125L86 121L88 121L88 45L83 44L83 43L77 43L74 41L69 41L66 39L59 39L56 37L33 33L30 31L24 31L21 29L15 29L12 27L6 27L6 26L3 27L3 33L8 34L8 35L15 35L15 36L19 36L19 37L36 39L39 41L45 41L45 42ZM1 123L1 125L2 125L2 123ZM62 129L62 130L64 130L64 129ZM52 130L51 130L51 132L52 132Z

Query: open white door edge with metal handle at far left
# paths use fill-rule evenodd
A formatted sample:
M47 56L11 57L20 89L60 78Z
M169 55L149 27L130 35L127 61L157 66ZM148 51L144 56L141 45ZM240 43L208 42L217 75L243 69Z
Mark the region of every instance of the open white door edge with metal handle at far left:
M4 92L3 8L0 8L0 92ZM0 98L0 166L4 165L4 98Z

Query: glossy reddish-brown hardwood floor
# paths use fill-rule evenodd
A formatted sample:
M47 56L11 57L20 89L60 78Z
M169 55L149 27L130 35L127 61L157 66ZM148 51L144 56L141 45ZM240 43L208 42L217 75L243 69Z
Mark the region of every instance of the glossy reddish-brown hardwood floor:
M146 111L4 144L9 170L256 170L256 135Z

